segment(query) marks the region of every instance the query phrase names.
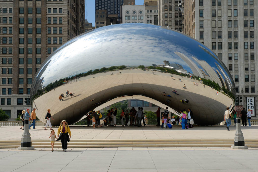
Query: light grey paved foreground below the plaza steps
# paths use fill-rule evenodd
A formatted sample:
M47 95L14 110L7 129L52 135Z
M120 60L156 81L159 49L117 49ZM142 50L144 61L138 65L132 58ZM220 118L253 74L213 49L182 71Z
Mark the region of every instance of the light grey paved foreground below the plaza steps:
M4 151L0 171L258 172L258 150Z

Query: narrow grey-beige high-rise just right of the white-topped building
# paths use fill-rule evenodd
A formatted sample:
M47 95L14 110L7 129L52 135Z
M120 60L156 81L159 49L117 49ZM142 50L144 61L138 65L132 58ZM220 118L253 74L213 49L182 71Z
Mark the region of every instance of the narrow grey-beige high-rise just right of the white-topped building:
M183 0L158 0L158 25L183 32Z

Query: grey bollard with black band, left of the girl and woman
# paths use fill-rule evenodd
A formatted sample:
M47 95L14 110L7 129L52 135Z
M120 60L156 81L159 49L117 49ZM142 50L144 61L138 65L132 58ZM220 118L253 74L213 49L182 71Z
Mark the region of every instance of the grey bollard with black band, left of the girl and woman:
M31 146L31 137L29 132L28 119L25 119L24 121L24 132L21 138L21 146L18 147L18 150L34 150L34 146Z

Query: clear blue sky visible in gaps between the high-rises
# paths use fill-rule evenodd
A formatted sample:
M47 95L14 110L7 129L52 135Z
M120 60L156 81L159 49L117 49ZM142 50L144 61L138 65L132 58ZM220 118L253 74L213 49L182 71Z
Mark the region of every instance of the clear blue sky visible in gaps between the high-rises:
M144 0L135 0L135 5L143 5ZM95 26L95 0L85 0L85 19Z

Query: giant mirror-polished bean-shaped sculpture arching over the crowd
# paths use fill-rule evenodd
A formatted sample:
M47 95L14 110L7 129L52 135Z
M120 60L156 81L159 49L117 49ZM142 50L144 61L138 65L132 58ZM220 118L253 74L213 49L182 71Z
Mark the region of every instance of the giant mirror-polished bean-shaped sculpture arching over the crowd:
M74 96L66 96L69 90ZM63 101L59 101L61 93ZM87 112L141 99L179 114L191 108L195 124L223 121L235 103L235 84L223 62L201 42L150 24L115 24L69 40L38 70L30 92L43 121L79 121ZM179 113L178 113L179 112Z

